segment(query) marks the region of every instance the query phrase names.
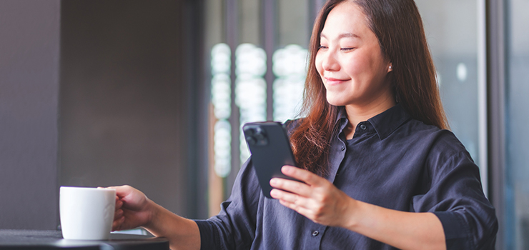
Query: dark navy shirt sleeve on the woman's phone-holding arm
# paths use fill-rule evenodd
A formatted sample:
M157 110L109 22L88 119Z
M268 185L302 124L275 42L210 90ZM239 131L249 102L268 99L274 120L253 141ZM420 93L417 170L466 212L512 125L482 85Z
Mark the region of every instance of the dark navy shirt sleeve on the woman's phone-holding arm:
M452 143L460 145L457 139ZM464 149L451 155L433 151L425 174L430 188L413 197L412 209L439 218L447 249L494 249L498 221L483 194L478 166Z

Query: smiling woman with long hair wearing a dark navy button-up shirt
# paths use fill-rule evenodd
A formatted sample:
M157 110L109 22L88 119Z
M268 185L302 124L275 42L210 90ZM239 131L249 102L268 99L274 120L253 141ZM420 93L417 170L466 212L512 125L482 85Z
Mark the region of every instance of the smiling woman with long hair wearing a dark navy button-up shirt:
M116 187L114 230L144 226L172 249L493 249L478 167L448 130L412 0L331 0L312 31L307 117L291 121L304 183L261 194L251 159L222 211L174 215Z

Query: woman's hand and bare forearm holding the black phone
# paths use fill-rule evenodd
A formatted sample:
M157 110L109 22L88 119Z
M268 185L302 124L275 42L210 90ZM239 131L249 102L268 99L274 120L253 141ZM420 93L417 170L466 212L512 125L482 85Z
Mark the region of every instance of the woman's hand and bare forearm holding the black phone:
M446 249L443 225L435 214L367 204L305 169L283 166L281 171L305 183L271 179L272 197L318 224L340 226L398 249Z

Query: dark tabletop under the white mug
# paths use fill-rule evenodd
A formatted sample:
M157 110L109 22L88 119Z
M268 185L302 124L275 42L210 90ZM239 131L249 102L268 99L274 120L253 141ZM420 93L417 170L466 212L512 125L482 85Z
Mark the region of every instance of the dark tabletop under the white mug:
M63 239L61 231L0 229L0 249L75 249L75 250L168 250L162 237L110 234L107 241Z

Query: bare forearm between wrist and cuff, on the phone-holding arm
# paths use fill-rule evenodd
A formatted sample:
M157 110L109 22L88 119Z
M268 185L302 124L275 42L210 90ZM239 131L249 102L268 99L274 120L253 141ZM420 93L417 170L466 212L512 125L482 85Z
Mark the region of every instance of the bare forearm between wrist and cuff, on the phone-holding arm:
M351 199L345 228L398 249L446 249L443 224L432 213L385 209Z

